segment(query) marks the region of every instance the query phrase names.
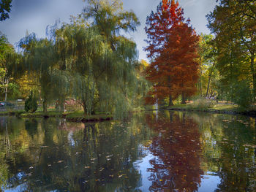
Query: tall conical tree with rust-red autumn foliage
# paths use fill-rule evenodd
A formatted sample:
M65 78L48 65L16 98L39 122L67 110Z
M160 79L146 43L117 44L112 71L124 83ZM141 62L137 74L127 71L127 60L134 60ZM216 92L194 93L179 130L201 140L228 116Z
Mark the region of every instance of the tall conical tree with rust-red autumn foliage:
M148 102L169 97L170 106L181 95L185 103L185 98L196 91L199 37L183 14L178 1L162 0L157 12L151 12L146 20L148 47L145 50L151 59L146 73L153 84Z

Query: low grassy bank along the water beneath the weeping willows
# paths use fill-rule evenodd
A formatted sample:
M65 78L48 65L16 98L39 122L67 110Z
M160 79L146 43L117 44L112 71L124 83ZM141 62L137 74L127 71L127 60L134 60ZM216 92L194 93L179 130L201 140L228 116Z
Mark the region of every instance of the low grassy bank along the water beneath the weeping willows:
M83 111L78 112L58 112L51 110L48 112L25 112L25 111L7 111L0 112L0 115L15 115L20 118L66 118L69 121L74 122L94 122L102 120L113 119L112 115L96 114L96 115L84 115Z

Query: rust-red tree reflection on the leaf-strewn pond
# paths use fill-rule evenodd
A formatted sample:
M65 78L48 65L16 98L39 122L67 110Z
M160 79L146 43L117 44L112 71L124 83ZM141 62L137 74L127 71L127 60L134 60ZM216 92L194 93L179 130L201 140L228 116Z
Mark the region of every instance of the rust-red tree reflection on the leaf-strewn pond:
M191 119L147 117L148 126L157 131L149 150L151 191L197 191L203 171L200 169L200 134Z

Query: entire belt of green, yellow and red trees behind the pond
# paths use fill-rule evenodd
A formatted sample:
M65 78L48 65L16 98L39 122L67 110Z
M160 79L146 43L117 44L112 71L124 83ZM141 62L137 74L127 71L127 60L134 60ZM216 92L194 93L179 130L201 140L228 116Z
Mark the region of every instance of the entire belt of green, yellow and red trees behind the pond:
M1 2L7 20L11 2ZM1 100L25 110L83 110L121 118L151 104L212 102L255 110L256 2L219 0L206 15L211 34L197 34L178 1L162 0L146 18L148 61L127 34L140 23L121 0L87 0L46 38L26 33L17 45L0 38Z

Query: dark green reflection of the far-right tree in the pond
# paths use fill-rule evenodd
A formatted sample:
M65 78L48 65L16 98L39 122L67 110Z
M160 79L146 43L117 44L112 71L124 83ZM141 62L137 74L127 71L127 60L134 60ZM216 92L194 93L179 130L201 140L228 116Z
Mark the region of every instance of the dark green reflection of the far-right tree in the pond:
M222 155L218 191L256 191L255 127L246 118L229 117L223 121ZM227 139L227 140L226 140Z

